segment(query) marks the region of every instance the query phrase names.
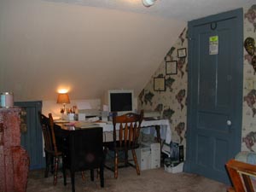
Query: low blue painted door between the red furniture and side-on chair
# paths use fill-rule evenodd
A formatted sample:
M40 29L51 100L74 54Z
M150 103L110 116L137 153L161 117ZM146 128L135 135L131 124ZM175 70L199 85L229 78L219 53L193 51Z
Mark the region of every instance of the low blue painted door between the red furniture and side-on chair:
M21 146L26 149L30 157L30 170L45 166L43 156L43 137L38 119L38 112L42 111L42 102L15 102L15 106L26 109L26 132L21 132Z

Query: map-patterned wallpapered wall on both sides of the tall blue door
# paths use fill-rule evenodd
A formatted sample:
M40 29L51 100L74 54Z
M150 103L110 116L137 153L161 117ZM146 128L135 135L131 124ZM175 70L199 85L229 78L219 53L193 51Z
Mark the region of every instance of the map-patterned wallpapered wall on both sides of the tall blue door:
M256 40L256 4L244 7L244 39L252 37ZM160 67L144 87L138 100L138 108L145 111L160 111L163 117L170 120L172 129L172 141L184 145L186 148L186 130L187 130L187 57L177 58L177 49L187 48L188 42L185 38L185 32L177 38L176 44L167 53L171 55L172 60L177 60L177 74L166 75L166 62L163 60ZM188 52L188 51L187 51ZM256 49L254 53L256 62ZM253 70L253 55L248 55L244 50L244 101L241 130L241 150L256 151L256 63ZM165 77L166 91L154 90L154 78ZM255 89L246 89L247 79L255 81ZM256 104L255 104L256 105Z

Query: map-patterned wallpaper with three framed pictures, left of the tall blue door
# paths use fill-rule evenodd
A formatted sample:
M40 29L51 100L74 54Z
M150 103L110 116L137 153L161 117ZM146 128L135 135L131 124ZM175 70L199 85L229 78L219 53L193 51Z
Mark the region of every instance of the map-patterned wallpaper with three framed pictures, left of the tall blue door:
M170 120L172 127L172 142L186 146L186 121L187 121L187 82L188 82L188 41L187 28L177 38L177 42L163 58L160 67L149 80L146 87L138 96L138 109L158 111L162 117ZM182 55L178 54L183 50ZM180 52L179 52L180 53ZM177 62L177 73L166 74L166 61ZM174 72L176 70L174 69ZM154 78L165 78L166 90L154 89Z

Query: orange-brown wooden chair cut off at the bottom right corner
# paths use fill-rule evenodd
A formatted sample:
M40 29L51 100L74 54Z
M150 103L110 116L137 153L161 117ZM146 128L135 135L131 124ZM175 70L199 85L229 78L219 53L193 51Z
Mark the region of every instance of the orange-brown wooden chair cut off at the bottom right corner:
M233 187L229 192L253 192L253 183L256 179L256 166L237 160L229 160L226 168L230 175ZM254 186L255 187L255 186Z

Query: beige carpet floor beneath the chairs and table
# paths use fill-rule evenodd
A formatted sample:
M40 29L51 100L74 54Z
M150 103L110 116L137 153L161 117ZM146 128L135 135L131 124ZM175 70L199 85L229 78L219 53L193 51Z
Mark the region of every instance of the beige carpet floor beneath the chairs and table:
M61 172L60 172L61 175ZM119 169L118 179L113 178L113 172L105 169L105 187L100 187L99 179L90 181L89 172L85 172L84 181L81 174L76 174L76 191L108 191L108 192L225 192L227 186L223 183L188 173L169 173L164 168L142 171L137 176L132 167ZM29 173L27 192L70 192L70 177L67 177L67 186L63 185L63 178L53 185L53 177L44 178L44 170Z

